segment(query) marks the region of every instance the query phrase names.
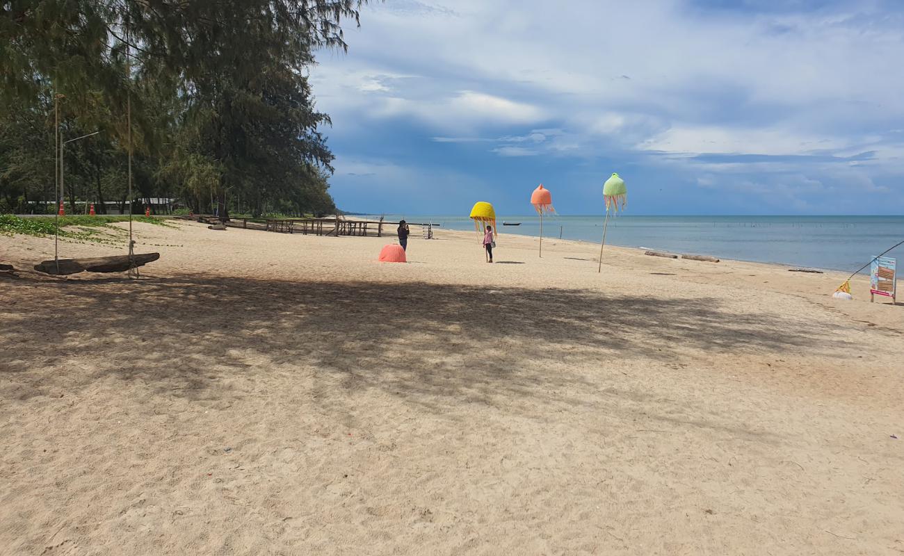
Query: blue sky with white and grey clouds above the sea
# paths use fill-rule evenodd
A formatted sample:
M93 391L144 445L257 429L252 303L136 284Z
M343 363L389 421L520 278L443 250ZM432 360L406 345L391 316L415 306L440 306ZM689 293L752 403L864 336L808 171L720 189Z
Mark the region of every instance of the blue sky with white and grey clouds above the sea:
M311 71L353 212L904 213L904 2L385 0Z

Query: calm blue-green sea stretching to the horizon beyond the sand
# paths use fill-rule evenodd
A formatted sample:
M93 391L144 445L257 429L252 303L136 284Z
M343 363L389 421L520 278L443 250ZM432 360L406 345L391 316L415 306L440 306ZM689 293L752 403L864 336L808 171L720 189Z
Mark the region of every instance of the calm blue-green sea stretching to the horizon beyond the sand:
M474 230L466 216L387 214L389 221L440 224L439 230ZM521 222L503 226L503 222ZM540 235L540 218L499 216L505 234ZM599 243L602 216L544 216L543 237ZM853 272L904 240L904 216L629 216L609 217L606 243L723 259L770 262ZM904 260L904 245L888 257ZM862 272L868 273L869 268Z

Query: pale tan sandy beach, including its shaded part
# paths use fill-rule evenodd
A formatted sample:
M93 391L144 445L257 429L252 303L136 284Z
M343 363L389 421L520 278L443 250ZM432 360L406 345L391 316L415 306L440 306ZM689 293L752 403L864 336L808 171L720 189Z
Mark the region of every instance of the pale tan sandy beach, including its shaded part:
M866 278L136 231L139 280L0 273L0 553L904 552L904 307Z

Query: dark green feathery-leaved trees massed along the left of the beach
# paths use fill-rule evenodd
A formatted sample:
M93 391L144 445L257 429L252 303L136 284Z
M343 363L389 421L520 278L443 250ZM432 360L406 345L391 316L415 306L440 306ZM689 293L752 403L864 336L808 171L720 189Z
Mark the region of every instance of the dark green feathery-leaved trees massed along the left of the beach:
M221 214L335 210L333 155L306 68L345 49L363 0L10 0L0 4L0 210L49 201L54 128L68 200ZM56 102L54 101L56 100ZM102 206L102 205L101 205ZM73 207L74 208L74 207Z

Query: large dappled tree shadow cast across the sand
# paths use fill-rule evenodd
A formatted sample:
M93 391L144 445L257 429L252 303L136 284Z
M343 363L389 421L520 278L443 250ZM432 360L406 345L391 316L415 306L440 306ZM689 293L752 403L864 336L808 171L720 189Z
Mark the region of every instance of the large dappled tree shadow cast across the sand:
M14 305L0 324L0 380L40 368L73 391L115 375L206 400L235 375L305 368L325 387L381 389L439 410L449 398L552 396L586 380L561 365L588 358L605 373L614 359L818 352L841 336L825 323L730 313L711 298L576 289L193 276L4 287ZM60 372L71 353L90 353L96 368Z

